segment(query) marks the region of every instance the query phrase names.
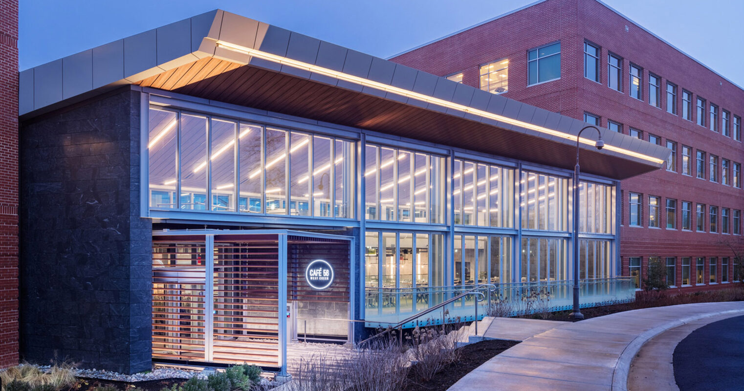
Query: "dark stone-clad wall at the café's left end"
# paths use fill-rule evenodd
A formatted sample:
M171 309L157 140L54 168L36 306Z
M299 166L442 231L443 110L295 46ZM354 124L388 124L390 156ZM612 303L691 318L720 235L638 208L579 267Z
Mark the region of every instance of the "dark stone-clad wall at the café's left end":
M21 355L151 369L152 223L140 213L140 93L21 126Z

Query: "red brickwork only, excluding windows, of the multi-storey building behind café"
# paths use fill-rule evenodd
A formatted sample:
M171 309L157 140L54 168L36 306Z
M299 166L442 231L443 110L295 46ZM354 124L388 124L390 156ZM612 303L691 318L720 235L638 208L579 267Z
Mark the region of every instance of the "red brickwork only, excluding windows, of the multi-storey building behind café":
M710 34L711 39L720 39L713 33ZM601 83L583 77L585 39L601 47ZM561 42L561 79L527 86L527 51L557 40ZM623 93L607 87L608 51L623 57ZM677 143L676 172L659 169L621 183L623 227L620 229L620 256L623 274L629 274L629 256L642 257L641 270L644 271L644 277L649 256L660 256L662 261L667 256L673 256L676 257L676 281L680 285L681 257L690 256L694 264L696 257L705 256L705 286L693 285L685 289L727 286L708 283L708 262L711 257L718 258L720 282L721 258L734 256L728 247L722 245L722 241L740 240L741 236L682 231L682 201L693 202L693 230L696 203L706 205L706 227L708 206L719 207L720 230L721 208L743 210L744 192L720 183L682 175L682 144L693 147L693 161L696 149L719 156L719 175L722 158L744 164L743 144L724 137L722 133L698 126L695 122L684 120L679 115L667 113L664 88L667 80L678 85L680 112L682 88L693 93L693 106L698 94L708 103L715 103L719 106L719 122L722 117L720 109L731 112L732 120L734 114L744 117L744 91L594 0L543 1L392 60L440 76L464 71L463 82L478 87L479 65L503 58L510 61L509 91L504 94L505 97L578 119L583 118L584 112L590 112L601 117L602 126L607 126L607 120L611 119L623 123L625 134L628 134L631 126L643 131L645 140L648 140L650 132L661 137L663 145L667 139ZM628 94L630 62L644 68L643 101ZM661 77L661 109L648 103L649 72ZM707 167L706 162L706 169ZM630 192L644 196L644 227L627 226ZM650 195L661 197L660 229L648 227ZM664 205L667 198L677 201L676 230L666 229ZM694 270L694 265L692 268ZM731 279L731 260L728 268Z

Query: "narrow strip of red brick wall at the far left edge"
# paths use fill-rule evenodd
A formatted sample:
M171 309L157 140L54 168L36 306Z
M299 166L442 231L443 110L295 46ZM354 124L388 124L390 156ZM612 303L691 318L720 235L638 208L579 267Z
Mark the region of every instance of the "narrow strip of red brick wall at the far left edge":
M18 363L18 0L0 0L0 368Z

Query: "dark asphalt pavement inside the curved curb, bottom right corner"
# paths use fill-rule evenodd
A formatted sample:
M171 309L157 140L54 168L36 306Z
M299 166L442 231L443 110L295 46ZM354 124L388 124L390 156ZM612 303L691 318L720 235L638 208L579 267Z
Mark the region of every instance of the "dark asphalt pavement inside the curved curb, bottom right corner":
M680 391L744 390L744 316L702 326L673 355Z

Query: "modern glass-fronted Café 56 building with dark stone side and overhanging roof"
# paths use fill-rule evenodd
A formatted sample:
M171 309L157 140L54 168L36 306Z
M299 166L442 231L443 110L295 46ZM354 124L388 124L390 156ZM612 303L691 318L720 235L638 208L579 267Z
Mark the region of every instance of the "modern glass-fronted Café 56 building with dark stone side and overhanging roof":
M576 263L583 306L632 300L619 181L669 155L582 137L574 238L583 120L222 10L22 71L19 99L22 356L118 372L282 371L292 340L476 286L568 308Z

